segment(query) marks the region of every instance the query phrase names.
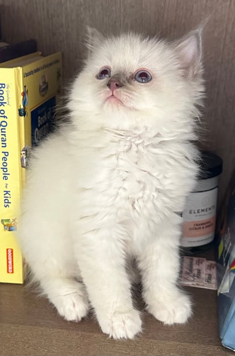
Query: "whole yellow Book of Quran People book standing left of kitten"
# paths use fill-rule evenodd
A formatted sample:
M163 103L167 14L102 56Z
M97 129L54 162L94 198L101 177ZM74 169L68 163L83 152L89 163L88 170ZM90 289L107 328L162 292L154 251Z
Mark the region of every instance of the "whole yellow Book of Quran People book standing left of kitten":
M17 243L19 202L31 146L51 129L62 80L62 56L40 52L0 64L0 282L23 283ZM36 202L35 202L36 204Z

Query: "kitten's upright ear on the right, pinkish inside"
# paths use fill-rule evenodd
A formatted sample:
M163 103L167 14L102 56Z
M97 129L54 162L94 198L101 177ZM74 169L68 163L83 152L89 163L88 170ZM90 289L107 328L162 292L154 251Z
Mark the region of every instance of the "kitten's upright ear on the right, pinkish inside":
M189 32L187 36L176 42L175 48L184 75L192 78L202 66L202 28Z

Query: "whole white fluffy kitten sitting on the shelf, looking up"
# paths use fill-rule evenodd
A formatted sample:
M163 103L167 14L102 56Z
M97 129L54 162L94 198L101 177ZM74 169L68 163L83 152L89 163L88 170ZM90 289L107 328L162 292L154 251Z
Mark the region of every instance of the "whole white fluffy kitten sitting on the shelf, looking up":
M103 332L133 338L141 318L129 257L150 313L165 324L191 315L177 286L175 212L197 174L191 142L204 89L201 34L166 43L133 33L106 39L90 29L89 49L70 93L71 123L31 159L19 239L60 315L78 321L91 305Z

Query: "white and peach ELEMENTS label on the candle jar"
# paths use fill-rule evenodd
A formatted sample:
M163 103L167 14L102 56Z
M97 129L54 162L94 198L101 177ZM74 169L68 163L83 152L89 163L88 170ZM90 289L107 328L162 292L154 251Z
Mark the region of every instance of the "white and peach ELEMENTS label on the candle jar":
M182 214L184 218L182 246L200 246L213 240L217 190L218 188L215 187L211 190L189 194Z

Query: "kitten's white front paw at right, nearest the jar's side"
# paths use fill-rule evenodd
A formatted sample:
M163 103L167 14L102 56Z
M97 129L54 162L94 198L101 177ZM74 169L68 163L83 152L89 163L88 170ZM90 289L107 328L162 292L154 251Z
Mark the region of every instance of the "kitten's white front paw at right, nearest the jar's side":
M175 299L169 297L156 301L154 306L148 306L148 311L164 324L184 324L192 314L191 302L187 295L177 293Z

